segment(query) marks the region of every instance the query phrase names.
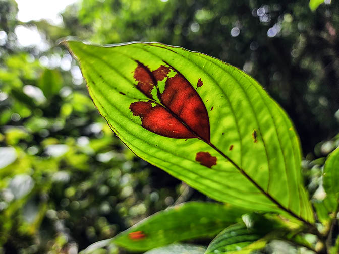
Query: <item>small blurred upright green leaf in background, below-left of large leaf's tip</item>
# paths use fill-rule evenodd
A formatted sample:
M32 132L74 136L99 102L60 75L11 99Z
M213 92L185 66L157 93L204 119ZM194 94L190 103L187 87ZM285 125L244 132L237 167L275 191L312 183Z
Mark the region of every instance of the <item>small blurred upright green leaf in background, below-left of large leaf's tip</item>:
M58 70L45 69L38 82L46 98L58 94L64 83L63 77Z

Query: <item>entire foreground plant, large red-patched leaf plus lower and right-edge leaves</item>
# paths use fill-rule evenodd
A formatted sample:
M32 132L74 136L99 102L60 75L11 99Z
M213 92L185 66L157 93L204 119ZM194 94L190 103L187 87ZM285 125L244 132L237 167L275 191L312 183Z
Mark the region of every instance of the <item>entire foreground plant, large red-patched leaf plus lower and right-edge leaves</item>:
M327 197L314 211L293 124L253 78L216 58L159 43L65 45L100 114L127 147L232 205L182 204L106 243L145 251L225 228L200 252L250 253L285 239L336 253L338 150L325 163ZM315 244L305 234L315 235Z

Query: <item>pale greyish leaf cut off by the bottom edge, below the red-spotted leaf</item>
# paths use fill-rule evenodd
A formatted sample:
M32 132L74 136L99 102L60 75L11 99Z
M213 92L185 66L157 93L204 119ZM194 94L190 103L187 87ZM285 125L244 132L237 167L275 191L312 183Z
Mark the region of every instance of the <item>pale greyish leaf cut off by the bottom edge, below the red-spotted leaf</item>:
M171 244L164 247L152 249L145 254L204 254L206 248L193 244Z

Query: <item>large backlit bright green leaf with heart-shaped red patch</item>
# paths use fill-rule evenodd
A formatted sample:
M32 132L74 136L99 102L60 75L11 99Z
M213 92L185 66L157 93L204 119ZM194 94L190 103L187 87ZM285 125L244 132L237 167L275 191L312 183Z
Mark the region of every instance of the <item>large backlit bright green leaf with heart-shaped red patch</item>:
M215 200L313 221L293 124L253 78L160 43L65 44L136 155Z

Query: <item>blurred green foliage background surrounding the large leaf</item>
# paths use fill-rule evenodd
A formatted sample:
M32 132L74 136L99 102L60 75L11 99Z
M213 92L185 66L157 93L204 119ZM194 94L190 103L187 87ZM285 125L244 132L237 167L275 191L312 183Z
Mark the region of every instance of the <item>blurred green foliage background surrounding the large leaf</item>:
M292 117L309 192L323 198L321 157L339 145L339 2L146 2L83 0L57 26L20 22L16 2L0 0L0 253L76 253L175 201L206 199L114 136L58 45L68 35L160 41L244 69ZM20 45L20 26L44 47ZM96 253L117 253L107 251Z

